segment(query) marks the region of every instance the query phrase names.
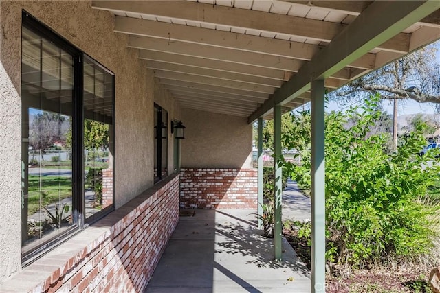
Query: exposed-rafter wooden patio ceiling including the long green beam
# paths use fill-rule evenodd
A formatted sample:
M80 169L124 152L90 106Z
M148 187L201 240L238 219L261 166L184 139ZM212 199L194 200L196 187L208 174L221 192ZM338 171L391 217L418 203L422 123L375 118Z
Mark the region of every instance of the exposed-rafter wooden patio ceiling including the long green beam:
M440 38L440 1L94 1L184 108L269 117Z

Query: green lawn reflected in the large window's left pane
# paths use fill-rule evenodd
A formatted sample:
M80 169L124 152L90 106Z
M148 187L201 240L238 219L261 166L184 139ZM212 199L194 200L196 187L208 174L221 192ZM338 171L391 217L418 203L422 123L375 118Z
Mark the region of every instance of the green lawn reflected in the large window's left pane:
M28 215L36 213L40 209L40 198L43 206L57 202L61 197L69 198L72 196L72 179L63 176L29 176L29 205Z

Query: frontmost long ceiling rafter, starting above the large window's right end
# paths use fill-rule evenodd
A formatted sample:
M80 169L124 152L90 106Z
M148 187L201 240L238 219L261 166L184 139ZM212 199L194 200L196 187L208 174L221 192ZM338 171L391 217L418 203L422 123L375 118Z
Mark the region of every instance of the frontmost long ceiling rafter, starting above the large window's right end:
M168 1L167 5L164 5L163 1L93 1L92 7L113 12L146 14L184 21L261 30L275 34L281 33L327 43L331 42L345 27L342 23L192 1ZM256 19L258 21L255 21ZM402 49L402 44L399 41L386 41L387 43L384 42L384 44L378 44L377 46L392 51Z

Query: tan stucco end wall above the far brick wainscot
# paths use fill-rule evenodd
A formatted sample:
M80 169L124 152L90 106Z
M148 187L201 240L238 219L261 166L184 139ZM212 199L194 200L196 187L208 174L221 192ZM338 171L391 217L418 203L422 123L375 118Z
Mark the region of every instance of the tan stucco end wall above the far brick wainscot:
M252 167L252 125L245 117L182 108L181 121L181 167Z

